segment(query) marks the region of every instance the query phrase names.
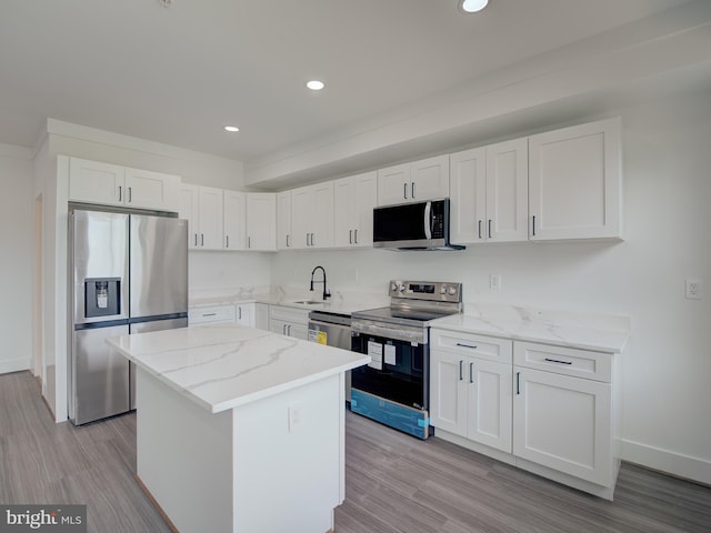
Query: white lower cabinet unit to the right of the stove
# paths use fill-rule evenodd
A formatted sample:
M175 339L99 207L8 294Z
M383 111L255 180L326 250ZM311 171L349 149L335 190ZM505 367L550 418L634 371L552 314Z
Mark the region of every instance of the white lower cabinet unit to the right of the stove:
M433 328L431 424L444 440L612 500L613 358Z

